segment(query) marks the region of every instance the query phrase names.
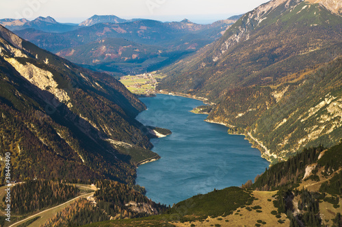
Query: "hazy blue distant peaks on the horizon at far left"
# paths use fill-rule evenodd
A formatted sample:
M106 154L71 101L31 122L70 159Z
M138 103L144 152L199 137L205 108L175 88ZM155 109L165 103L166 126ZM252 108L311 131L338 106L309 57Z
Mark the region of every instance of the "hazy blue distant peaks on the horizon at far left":
M11 31L21 30L21 29L38 29L45 32L66 32L76 29L75 25L66 25L58 23L51 16L42 17L34 19L34 21L28 21L26 19L2 19L0 20L0 25L10 29Z

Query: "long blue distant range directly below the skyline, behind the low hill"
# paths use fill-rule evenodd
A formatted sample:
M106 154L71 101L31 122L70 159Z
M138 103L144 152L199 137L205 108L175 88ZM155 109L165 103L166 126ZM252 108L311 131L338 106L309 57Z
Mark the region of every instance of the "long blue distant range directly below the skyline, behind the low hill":
M51 34L34 29L23 29L16 34L38 46L57 53L62 49L79 46L102 40L103 38L124 38L139 44L157 45L177 48L180 44L194 40L203 40L205 44L220 37L222 31L234 21L222 21L213 25L198 25L194 23L161 23L160 21L144 20L128 23L98 23L91 27L81 27L75 31L63 34ZM222 25L223 24L223 25ZM216 27L216 34L207 35L206 30ZM54 36L51 38L51 36ZM49 38L48 38L49 37ZM200 44L203 46L204 44Z

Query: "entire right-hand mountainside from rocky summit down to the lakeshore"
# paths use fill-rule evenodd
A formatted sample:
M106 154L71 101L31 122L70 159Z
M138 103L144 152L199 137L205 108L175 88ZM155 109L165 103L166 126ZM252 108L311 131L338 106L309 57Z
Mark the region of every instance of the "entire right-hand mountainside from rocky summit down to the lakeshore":
M161 70L168 77L157 89L217 103L207 120L244 131L272 162L331 146L341 135L342 17L327 2L261 5Z

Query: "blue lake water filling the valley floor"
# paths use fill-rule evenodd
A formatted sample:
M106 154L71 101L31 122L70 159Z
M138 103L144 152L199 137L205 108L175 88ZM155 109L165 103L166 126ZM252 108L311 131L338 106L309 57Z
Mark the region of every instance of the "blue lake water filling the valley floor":
M137 169L137 184L146 187L153 201L172 205L198 193L241 186L268 167L243 135L228 135L226 126L189 112L201 101L165 94L141 101L148 109L137 120L172 131L151 140L161 159Z

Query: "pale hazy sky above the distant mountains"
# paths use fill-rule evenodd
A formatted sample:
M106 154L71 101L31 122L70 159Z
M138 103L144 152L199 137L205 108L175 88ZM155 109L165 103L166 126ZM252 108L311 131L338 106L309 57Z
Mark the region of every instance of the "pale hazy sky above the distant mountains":
M253 10L267 0L0 0L0 18L51 16L80 23L94 14L159 21L212 23Z

